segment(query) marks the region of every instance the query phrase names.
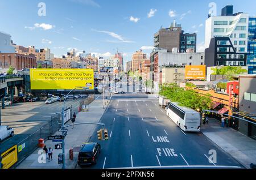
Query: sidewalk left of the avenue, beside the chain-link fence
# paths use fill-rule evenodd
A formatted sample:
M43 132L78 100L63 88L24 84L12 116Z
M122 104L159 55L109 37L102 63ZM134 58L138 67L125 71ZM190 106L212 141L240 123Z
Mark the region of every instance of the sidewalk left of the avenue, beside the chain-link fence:
M109 100L108 100L109 101ZM80 112L76 115L76 123L82 122L95 122L98 123L104 114L105 109L103 109L102 100L94 100L89 105L89 112ZM71 124L71 122L68 122ZM79 125L68 127L68 134L65 137L65 165L67 169L73 169L76 166L77 156L79 154L81 145L88 142L93 132L96 130L97 125ZM61 134L56 132L55 135ZM47 148L51 147L53 149L52 161L46 160L46 163L39 163L38 151L42 148L36 149L32 155L28 156L21 164L19 164L17 169L61 169L62 165L58 164L58 155L62 153L62 149L55 149L55 144L52 140L47 140L44 142ZM69 160L69 149L74 151L73 161Z

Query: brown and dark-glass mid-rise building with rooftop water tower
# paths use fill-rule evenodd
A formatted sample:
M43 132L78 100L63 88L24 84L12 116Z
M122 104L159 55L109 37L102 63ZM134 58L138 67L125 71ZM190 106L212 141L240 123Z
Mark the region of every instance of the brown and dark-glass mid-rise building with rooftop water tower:
M196 52L196 33L184 33L181 25L174 20L170 28L161 28L154 34L154 47L167 49L167 52L172 52L174 48L179 53L185 53L187 49Z

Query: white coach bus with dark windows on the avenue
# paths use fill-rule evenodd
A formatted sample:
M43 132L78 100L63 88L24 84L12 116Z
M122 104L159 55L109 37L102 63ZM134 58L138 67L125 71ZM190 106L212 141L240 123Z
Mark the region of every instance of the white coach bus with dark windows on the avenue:
M200 131L200 113L171 102L167 107L168 117L183 131Z

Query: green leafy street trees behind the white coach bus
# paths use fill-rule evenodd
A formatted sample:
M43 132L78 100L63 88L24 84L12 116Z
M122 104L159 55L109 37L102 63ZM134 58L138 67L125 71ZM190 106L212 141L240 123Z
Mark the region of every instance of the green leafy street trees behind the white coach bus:
M207 110L212 107L210 96L200 96L193 89L185 90L175 83L162 85L160 95L168 98L172 102L179 102L179 105L191 108L197 111Z

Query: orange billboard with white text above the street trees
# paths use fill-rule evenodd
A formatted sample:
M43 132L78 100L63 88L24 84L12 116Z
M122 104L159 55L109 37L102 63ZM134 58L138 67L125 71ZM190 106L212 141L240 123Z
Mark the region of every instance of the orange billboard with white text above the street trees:
M206 66L185 66L185 79L205 79Z

